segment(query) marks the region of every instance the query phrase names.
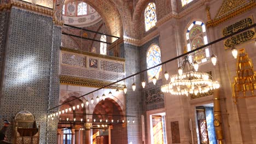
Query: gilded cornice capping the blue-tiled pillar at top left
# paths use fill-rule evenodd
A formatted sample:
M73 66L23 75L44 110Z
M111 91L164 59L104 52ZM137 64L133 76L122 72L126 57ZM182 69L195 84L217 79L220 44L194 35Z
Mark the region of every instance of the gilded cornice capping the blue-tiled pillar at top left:
M38 5L34 5L31 3L27 3L27 2L22 2L22 1L16 1L16 0L10 0L8 3L2 3L0 4L0 11L2 10L8 10L11 9L11 7L18 7L18 8L23 8L26 10L31 10L40 14L44 14L50 17L53 17L53 22L56 25L63 25L63 21L57 20L56 16L54 15L54 10L53 9L49 9L49 8L44 8Z

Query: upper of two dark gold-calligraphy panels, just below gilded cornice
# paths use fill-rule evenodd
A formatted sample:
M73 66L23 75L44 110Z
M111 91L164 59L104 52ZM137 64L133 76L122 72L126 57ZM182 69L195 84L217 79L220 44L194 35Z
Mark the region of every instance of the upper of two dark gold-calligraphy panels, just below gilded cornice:
M240 29L243 29L243 28L246 28L246 27L249 27L249 26L252 26L252 25L253 25L253 17L249 16L246 19L243 19L241 21L238 21L238 22L234 23L233 25L225 27L223 29L222 33L223 33L224 36L226 36L226 35L232 34L234 32L237 32Z

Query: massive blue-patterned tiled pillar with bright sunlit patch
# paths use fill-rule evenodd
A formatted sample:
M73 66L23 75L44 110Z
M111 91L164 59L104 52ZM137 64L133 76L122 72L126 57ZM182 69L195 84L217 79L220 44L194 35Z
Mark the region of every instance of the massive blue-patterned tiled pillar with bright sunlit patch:
M56 129L47 125L46 113L59 96L61 29L53 27L51 17L17 8L11 8L9 22L0 116L13 122L16 113L30 111L40 125L40 143L55 143ZM7 131L9 140L12 127Z

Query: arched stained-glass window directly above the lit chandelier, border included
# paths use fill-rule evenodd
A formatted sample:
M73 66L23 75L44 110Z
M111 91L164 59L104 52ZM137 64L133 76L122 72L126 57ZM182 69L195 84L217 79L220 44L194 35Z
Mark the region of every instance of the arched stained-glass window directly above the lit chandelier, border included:
M188 51L194 50L197 47L208 44L205 24L201 21L194 21L187 29L187 48ZM201 49L199 51L193 52L189 56L189 61L197 63L203 63L208 61L210 58L209 49Z

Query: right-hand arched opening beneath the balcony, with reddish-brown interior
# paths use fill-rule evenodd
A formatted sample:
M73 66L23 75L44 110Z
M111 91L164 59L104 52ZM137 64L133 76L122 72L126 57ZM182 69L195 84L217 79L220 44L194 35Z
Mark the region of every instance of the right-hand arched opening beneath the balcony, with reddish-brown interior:
M96 122L102 121L109 124L108 128L93 128L93 143L98 143L102 137L103 139L110 139L112 144L127 143L126 117L124 117L124 112L116 101L110 98L101 100L95 106L92 119Z

